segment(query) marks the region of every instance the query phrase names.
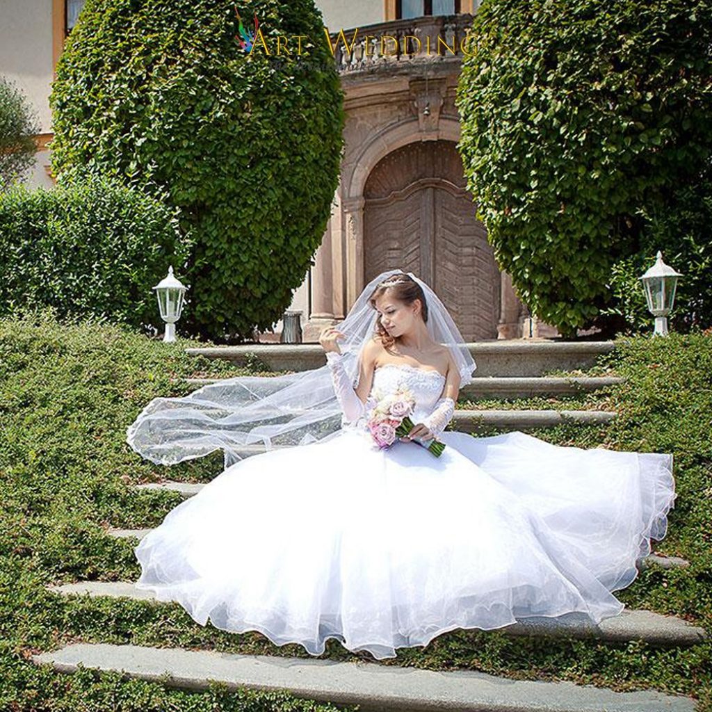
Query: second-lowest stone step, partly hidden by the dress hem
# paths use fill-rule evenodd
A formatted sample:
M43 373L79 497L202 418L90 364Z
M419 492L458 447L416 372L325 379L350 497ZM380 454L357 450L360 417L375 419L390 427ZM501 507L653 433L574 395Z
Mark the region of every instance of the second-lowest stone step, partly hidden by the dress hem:
M152 592L140 590L129 581L83 581L59 586L48 586L48 590L60 595L83 595L90 597L128 597L135 600L155 601ZM707 639L705 630L679 617L663 615L644 609L624 609L615 617L593 624L582 614L566 614L563 617L536 617L518 621L496 629L511 636L570 636L578 639L595 639L607 642L629 642L644 640L651 645L689 646Z

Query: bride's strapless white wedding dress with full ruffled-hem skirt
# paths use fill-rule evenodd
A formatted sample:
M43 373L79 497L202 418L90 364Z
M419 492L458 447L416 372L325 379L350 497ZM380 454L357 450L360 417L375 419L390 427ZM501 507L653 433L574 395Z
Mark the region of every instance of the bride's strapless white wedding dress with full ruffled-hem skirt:
M377 367L419 421L444 376ZM661 539L672 456L584 450L513 432L444 431L380 450L363 427L253 455L179 504L135 548L140 589L199 624L313 655L328 638L377 659L457 628L624 608L612 591Z

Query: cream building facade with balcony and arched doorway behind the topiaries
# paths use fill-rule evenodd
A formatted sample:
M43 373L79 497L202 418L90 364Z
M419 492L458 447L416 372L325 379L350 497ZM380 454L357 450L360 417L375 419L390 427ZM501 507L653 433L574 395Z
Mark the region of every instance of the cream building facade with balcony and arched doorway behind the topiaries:
M83 0L5 0L0 73L41 120L28 182L51 186L48 98ZM345 155L314 264L295 291L303 340L344 318L365 284L390 268L436 291L466 340L551 336L529 318L498 269L456 144L455 94L478 0L320 0L345 92ZM340 33L342 33L340 35ZM30 38L30 41L28 41ZM348 48L345 46L348 44ZM282 320L259 333L278 341Z

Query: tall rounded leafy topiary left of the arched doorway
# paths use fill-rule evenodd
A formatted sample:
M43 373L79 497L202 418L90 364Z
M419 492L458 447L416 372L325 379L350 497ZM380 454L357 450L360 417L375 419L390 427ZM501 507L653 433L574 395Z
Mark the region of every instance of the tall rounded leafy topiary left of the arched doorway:
M281 318L321 243L342 99L313 0L87 0L53 84L53 169L164 189L196 238L182 327L239 341Z

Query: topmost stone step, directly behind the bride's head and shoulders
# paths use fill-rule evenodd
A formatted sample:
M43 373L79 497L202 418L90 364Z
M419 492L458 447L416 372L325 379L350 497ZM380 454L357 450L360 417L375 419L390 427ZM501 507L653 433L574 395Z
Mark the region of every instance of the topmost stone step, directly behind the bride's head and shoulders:
M476 362L474 375L541 376L551 370L572 371L595 365L597 358L614 349L612 341L560 341L532 339L468 343ZM186 349L191 356L223 359L246 365L257 357L270 371L305 371L325 365L319 344L244 344Z

